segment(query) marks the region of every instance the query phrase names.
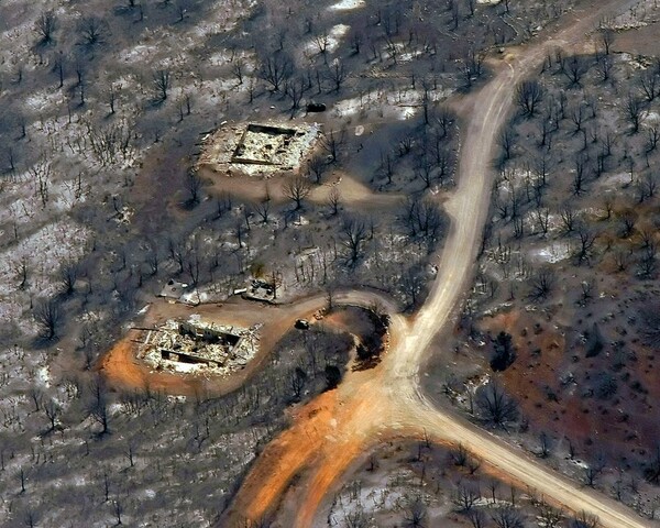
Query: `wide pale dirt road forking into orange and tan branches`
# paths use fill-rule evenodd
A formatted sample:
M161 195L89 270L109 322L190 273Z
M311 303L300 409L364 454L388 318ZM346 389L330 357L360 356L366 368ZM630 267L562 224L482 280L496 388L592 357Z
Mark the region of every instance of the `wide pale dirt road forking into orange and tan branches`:
M514 87L534 74L548 52L557 46L574 47L600 19L636 3L637 0L595 3L552 41L521 48L524 57L499 68L498 75L472 98L459 186L446 204L452 230L426 305L410 321L400 316L394 318L392 346L378 367L352 373L338 391L298 409L292 429L268 444L256 461L221 526L243 526L245 518L258 520L282 504L282 526L308 528L323 497L356 457L383 439L424 433L440 443L462 442L490 471L529 486L569 510L593 514L605 528L653 526L605 495L581 488L451 409L436 408L420 393L418 383L419 367L431 340L449 329L450 318L470 287L488 210L495 140L510 110ZM286 501L287 487L302 471L305 476L292 492L295 497Z

